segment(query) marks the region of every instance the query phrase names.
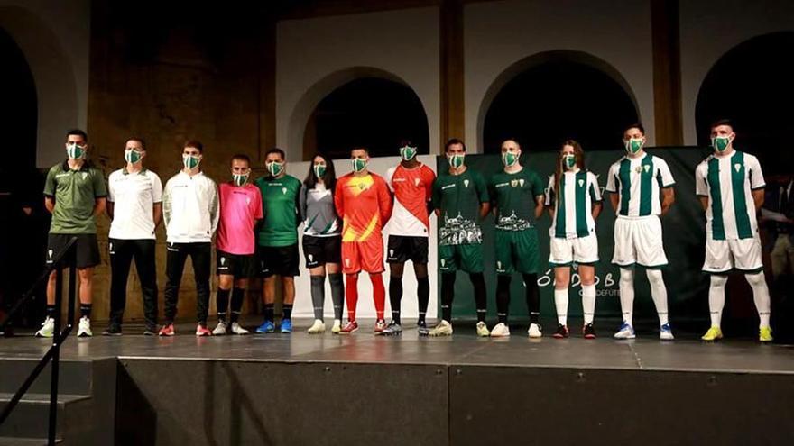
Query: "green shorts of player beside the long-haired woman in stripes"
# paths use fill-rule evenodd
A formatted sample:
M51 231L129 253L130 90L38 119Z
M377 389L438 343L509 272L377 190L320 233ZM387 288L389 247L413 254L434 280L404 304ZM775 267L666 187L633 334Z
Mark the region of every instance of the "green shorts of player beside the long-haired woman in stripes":
M540 250L538 232L534 228L523 231L496 230L496 274L538 274Z

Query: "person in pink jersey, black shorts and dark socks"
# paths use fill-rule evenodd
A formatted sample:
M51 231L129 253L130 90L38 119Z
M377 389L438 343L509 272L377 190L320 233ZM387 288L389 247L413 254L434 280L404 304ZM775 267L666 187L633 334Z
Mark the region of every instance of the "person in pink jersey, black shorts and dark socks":
M218 187L220 196L220 222L217 225L217 326L212 334L226 332L248 334L240 326L248 278L256 274L254 250L254 225L262 219L262 195L259 188L248 182L251 176L251 159L237 154L231 162L232 180ZM226 319L226 309L231 296L231 315Z

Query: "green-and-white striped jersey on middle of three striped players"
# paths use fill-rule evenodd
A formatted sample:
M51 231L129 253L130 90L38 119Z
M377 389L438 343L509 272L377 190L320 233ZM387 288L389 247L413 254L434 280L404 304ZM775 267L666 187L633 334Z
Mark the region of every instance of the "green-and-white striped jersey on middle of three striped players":
M617 214L626 217L661 214L660 189L674 184L667 162L650 153L621 158L606 177L606 191L620 195Z

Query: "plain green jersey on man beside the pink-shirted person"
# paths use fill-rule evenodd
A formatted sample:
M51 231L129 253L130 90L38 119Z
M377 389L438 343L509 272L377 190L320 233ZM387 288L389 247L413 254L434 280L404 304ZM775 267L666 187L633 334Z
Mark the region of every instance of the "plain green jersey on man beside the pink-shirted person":
M298 242L300 180L285 175L254 181L262 193L264 218L259 226L260 246L290 246Z

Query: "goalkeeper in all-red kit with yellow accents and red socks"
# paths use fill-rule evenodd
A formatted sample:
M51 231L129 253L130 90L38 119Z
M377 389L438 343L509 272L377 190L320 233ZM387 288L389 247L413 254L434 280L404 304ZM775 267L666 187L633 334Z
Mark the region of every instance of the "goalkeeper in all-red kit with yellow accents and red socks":
M377 321L375 334L383 332L383 225L392 215L392 196L383 177L367 170L369 152L362 147L350 152L353 172L337 181L334 204L342 218L342 272L346 275L347 323L340 333L358 330L355 306L358 303L358 273L369 273Z

